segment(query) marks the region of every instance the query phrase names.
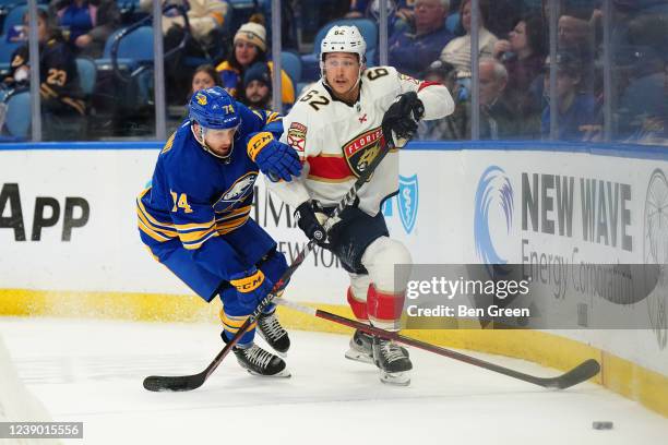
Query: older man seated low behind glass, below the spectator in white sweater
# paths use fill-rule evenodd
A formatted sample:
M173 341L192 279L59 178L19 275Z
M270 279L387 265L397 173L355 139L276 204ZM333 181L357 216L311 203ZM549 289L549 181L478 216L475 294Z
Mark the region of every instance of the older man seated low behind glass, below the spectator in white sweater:
M497 59L479 60L480 139L512 139L520 133L517 118L505 94L508 71Z

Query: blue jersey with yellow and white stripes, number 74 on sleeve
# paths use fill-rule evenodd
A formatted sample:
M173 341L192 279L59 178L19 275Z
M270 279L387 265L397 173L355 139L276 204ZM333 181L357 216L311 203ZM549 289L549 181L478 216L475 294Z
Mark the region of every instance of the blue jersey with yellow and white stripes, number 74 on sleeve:
M241 123L227 160L206 153L187 120L165 144L151 187L136 200L140 234L154 256L166 244L182 246L223 278L243 263L223 237L250 217L259 169L247 153L248 141L261 131L276 140L283 133L277 113L235 106Z

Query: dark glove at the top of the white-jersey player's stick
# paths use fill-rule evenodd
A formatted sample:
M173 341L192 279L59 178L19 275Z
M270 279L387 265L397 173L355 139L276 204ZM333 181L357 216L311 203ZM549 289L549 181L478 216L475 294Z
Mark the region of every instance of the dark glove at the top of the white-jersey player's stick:
M383 116L382 129L385 141L392 140L399 145L398 140L413 137L422 116L425 116L425 105L416 92L396 96Z

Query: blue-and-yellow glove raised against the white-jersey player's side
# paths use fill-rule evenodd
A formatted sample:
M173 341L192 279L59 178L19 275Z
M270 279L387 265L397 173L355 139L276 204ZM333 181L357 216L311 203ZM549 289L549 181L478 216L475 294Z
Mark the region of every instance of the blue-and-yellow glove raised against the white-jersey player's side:
M293 147L274 139L269 131L255 133L248 141L248 156L273 182L289 182L301 173L299 155Z

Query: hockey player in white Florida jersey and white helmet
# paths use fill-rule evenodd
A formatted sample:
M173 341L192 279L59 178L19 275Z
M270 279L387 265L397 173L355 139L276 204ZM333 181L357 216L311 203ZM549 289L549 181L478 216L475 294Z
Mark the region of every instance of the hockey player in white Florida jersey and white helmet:
M326 236L322 224L385 149L384 136L393 137L399 147L420 119L444 118L453 112L454 103L441 84L417 81L392 67L367 69L365 52L357 27L330 29L321 46L322 79L283 119L281 141L299 154L305 167L301 177L270 187L296 208L298 226L307 237L334 252L349 273L347 300L355 316L398 330L407 276L395 276L394 266L410 265L411 257L401 242L390 238L380 212L383 201L398 191L398 151L380 163L355 204L341 214ZM346 357L375 363L382 382L410 382L408 352L391 340L358 330Z

